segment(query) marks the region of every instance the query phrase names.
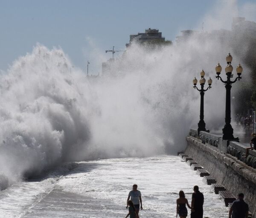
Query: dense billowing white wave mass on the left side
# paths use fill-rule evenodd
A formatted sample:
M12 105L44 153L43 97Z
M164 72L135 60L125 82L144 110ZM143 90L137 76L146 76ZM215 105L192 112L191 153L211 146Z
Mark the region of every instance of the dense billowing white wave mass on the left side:
M1 76L1 172L9 179L40 174L62 161L79 160L90 140L88 99L70 75L70 61L61 49L37 45ZM79 76L80 75L80 76Z

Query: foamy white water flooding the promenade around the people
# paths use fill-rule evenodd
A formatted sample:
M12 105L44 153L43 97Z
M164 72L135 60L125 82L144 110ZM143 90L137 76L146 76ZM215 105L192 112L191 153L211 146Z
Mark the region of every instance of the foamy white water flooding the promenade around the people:
M22 181L1 191L0 217L125 217L134 183L142 193L140 218L175 217L178 192L183 190L190 204L195 185L204 193L204 217L227 217L219 195L176 156L65 164L44 179Z

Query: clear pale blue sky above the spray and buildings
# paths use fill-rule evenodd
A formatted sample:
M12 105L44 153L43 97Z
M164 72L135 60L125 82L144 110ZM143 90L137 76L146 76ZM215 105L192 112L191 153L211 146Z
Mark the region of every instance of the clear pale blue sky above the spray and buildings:
M255 0L0 0L0 70L5 71L39 42L49 48L61 47L82 69L89 60L91 73L97 73L93 69L99 68L102 57L111 57L105 50L113 46L124 50L130 34L151 27L175 41L180 30L201 30L202 22L206 31L212 29L207 20L218 15L221 5L232 5L232 15L250 20L256 14L253 3ZM244 8L250 10L249 17ZM216 29L230 29L231 22L232 17L224 16ZM101 56L98 60L96 52Z

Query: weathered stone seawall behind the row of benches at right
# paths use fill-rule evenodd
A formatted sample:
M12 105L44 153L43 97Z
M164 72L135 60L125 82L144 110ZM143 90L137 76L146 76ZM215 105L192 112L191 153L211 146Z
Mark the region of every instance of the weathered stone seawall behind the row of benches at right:
M203 144L195 137L188 136L186 140L188 145L185 154L209 171L227 191L236 196L243 192L250 212L256 217L256 170L212 145Z

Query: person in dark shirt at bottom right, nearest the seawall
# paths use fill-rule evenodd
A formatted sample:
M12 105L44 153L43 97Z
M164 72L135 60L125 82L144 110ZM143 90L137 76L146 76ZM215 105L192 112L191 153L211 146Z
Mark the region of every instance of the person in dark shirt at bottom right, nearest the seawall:
M244 194L238 195L238 200L233 201L230 211L229 218L247 218L249 212L248 204L244 202Z

